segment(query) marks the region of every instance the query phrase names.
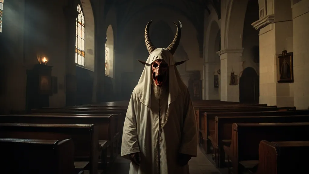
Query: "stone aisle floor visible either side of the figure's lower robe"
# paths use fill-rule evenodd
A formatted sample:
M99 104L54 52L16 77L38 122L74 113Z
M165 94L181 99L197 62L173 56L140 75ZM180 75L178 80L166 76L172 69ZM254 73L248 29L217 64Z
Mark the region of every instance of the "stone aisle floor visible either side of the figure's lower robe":
M109 169L108 174L128 174L129 167L129 160L118 157ZM197 148L197 157L189 161L189 169L190 174L221 174L200 148Z

